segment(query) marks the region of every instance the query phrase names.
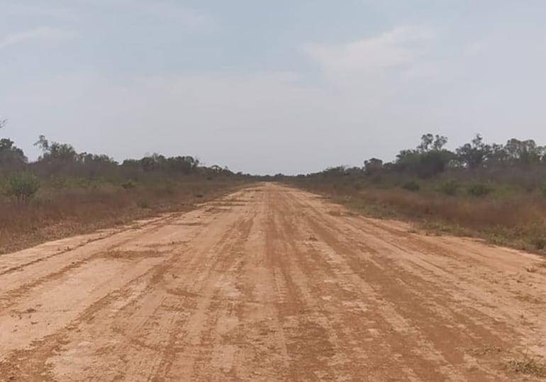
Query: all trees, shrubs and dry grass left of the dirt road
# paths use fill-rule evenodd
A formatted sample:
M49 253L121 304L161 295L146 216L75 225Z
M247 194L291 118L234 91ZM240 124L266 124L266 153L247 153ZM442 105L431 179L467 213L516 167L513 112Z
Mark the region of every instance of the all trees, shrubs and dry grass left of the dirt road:
M0 253L187 210L252 180L190 156L154 154L118 163L44 136L35 145L42 155L29 162L15 142L0 139Z

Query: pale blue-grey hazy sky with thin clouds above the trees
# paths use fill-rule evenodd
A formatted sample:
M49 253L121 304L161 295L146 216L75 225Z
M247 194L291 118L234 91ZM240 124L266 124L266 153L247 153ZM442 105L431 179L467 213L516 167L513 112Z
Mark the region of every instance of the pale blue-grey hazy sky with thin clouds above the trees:
M0 0L1 131L294 174L546 144L543 0Z

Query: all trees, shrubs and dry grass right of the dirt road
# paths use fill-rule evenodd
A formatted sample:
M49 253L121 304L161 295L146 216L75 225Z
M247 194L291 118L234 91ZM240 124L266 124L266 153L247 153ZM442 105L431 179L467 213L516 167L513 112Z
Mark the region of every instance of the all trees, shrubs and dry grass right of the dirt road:
M488 144L481 135L455 151L446 144L447 137L425 134L393 162L372 158L286 181L374 217L545 252L546 147L518 139Z

